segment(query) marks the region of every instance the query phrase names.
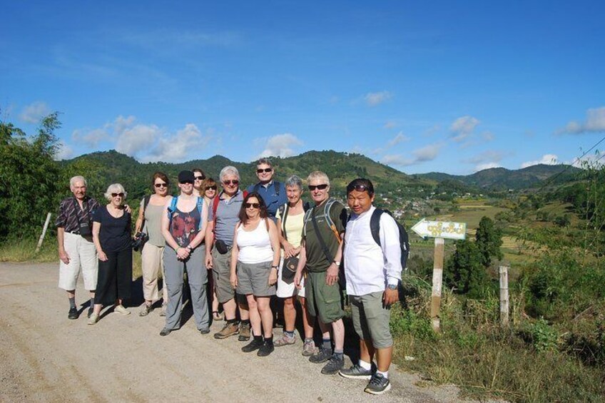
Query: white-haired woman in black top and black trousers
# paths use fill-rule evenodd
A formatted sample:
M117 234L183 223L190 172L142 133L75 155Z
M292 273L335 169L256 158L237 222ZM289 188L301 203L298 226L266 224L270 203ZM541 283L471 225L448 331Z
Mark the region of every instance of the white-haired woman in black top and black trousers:
M93 215L93 242L98 254L98 275L94 310L88 325L98 321L103 305L113 303L113 311L130 315L122 305L131 297L132 238L131 214L124 208L126 190L119 183L109 185L109 201Z

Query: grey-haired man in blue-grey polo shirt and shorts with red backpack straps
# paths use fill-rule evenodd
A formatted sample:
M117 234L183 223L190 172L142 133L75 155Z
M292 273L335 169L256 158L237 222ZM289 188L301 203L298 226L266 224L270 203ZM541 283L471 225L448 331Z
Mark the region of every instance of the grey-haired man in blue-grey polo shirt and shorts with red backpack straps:
M216 296L223 304L225 312L225 327L215 333L215 339L225 339L240 335L238 340L250 340L250 313L245 297L238 299L231 287L231 248L235 226L238 225L239 213L244 200L244 192L240 190L240 173L233 166L225 166L218 175L223 191L213 199L208 209L208 226L206 228L206 258L205 265L212 270ZM240 320L237 319L238 305Z

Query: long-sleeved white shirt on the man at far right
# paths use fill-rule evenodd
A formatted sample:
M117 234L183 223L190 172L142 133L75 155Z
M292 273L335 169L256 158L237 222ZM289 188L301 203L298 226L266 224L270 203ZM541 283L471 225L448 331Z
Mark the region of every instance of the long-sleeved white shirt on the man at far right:
M380 245L370 231L372 205L361 215L352 213L345 231L345 277L347 295L384 291L401 280L399 228L387 213L380 215Z

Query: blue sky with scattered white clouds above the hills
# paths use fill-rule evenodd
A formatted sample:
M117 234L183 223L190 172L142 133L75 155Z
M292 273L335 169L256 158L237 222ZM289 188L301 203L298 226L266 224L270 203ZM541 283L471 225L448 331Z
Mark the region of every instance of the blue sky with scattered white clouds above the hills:
M11 1L2 14L1 119L34 133L59 111L59 158L332 149L469 174L571 163L605 136L603 1Z

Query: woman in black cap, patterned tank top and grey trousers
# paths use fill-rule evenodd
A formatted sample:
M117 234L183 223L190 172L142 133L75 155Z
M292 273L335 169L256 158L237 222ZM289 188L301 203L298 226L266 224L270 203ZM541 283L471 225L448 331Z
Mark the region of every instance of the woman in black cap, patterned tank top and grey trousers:
M163 257L168 307L166 325L160 332L161 336L167 336L181 327L185 270L189 280L195 325L203 335L210 332L205 290L208 274L203 266L205 251L200 247L208 220L208 206L203 198L193 195L193 180L193 172L190 170L183 170L178 174L178 188L181 189L181 194L166 204L162 217L162 233L167 245Z

